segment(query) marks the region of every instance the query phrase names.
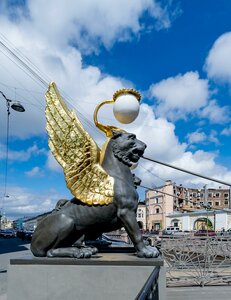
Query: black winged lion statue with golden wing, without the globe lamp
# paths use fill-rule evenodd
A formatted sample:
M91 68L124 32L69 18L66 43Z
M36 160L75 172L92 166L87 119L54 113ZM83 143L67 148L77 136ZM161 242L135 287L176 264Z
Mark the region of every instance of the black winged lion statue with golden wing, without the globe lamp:
M76 240L124 227L138 257L157 257L158 250L144 243L136 220L138 193L130 169L146 145L132 133L112 130L99 149L55 83L46 93L46 119L49 147L74 197L58 201L38 223L31 242L34 256L88 258L96 249L73 247Z

